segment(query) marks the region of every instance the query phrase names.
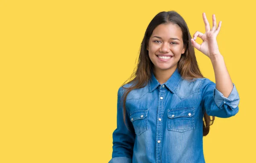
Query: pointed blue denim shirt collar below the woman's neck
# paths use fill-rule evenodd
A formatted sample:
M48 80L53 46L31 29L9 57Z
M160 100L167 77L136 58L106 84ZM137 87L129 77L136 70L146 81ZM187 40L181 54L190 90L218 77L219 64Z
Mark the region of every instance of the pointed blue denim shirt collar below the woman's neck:
M166 87L172 91L175 92L175 89L177 87L177 85L180 83L181 80L181 75L178 71L178 69L176 68L174 73L172 74L172 76L165 82L163 83L164 85L166 85ZM157 86L159 86L160 83L157 81L156 77L154 76L153 71L151 71L151 80L149 81L149 92L154 91L154 89L157 88Z

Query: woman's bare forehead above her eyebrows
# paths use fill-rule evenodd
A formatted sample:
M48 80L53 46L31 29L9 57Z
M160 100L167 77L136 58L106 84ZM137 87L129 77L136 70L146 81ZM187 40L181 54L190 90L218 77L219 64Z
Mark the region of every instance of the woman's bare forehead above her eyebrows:
M176 37L176 38L179 38L180 40L182 39L182 31L180 27L172 23L158 25L154 29L151 37L155 35L162 37L163 39L166 39L166 40L169 40L169 38L171 37Z

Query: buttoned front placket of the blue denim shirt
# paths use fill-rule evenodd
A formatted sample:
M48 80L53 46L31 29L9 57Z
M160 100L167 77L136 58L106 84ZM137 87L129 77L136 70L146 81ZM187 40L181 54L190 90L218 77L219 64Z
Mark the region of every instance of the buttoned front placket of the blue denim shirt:
M157 106L157 129L156 129L156 163L162 163L161 160L161 149L162 149L162 139L163 139L163 102L164 102L164 93L165 93L165 86L159 86L159 94L158 94L158 106Z

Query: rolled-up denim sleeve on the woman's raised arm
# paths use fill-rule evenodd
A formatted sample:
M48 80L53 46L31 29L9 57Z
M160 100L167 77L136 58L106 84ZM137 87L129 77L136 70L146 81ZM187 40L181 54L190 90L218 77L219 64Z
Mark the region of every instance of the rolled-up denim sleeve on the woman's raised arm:
M228 97L216 89L216 84L205 79L202 84L202 106L210 116L227 118L239 111L239 93L233 83L233 89Z

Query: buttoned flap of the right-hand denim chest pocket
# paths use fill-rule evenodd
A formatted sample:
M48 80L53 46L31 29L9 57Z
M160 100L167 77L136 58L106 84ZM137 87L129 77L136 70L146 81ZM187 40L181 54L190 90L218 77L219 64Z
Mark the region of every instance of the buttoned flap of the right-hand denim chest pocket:
M187 108L186 109L168 109L168 117L169 118L176 118L176 117L192 117L195 114L194 108Z

